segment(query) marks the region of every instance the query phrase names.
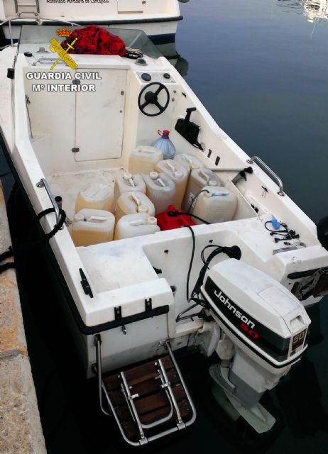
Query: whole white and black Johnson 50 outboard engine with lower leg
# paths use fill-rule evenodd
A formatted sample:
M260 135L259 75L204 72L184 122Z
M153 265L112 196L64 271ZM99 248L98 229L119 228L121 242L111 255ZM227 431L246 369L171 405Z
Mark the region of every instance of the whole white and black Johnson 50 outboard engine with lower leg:
M219 387L214 396L223 406L229 402L231 416L243 416L258 433L268 431L275 419L258 401L300 360L310 319L283 285L235 259L214 265L201 292L221 328L220 362L209 372L224 397Z

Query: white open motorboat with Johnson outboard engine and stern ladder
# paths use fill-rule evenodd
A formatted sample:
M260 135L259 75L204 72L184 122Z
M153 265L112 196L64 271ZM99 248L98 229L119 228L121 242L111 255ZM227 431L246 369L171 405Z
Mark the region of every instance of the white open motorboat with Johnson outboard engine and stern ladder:
M1 145L35 214L52 209L40 218L43 231L62 223L48 247L67 296L58 305L85 374L97 374L102 411L131 445L190 426L196 409L174 352L197 348L213 358L214 399L268 431L275 420L258 401L302 357L305 306L327 294L326 224L317 231L277 175L219 128L143 32L116 30L142 50L137 60L70 55L75 69L58 63L51 70L56 29L23 27L18 48L1 53L1 74L11 68L11 79L0 80ZM113 187L131 170L136 147L147 151L164 128L176 148L173 169L184 162L189 179L197 166L219 175L221 186L214 180L190 195L188 210L204 213L213 198L214 221L75 246L67 219L76 221L81 189ZM234 209L216 221L229 199ZM141 208L136 194L134 201ZM170 209L168 216L187 215Z

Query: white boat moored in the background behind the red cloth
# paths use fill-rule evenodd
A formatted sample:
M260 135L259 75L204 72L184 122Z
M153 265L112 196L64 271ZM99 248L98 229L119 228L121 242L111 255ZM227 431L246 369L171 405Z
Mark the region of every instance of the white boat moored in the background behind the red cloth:
M22 25L35 23L112 25L170 43L181 19L178 0L0 0L0 47L18 40Z

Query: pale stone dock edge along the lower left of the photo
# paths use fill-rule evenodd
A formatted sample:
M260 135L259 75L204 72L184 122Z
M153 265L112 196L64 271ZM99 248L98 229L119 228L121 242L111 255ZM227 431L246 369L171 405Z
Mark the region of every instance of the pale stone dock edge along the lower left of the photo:
M0 183L0 252L11 245ZM0 274L0 453L45 454L15 270Z

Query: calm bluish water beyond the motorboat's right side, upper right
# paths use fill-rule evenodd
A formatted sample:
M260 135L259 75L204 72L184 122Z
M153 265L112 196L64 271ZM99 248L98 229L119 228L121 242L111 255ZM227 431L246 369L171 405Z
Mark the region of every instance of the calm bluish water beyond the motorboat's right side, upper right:
M319 4L326 18L310 22ZM313 220L326 216L327 1L191 0L181 10L176 41L187 82Z

